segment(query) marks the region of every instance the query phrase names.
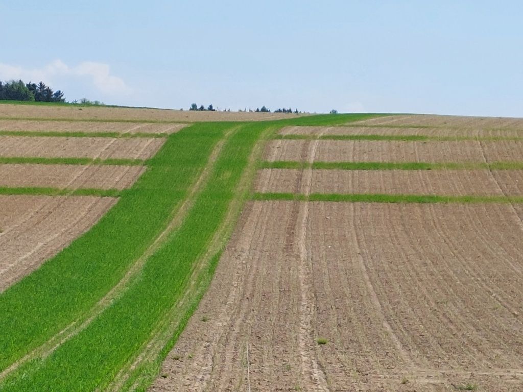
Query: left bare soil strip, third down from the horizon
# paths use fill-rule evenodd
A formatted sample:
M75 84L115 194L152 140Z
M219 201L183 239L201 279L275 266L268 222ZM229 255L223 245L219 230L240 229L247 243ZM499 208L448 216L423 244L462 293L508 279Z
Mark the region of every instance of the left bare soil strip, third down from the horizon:
M147 159L163 143L163 138L145 137L0 136L0 157Z

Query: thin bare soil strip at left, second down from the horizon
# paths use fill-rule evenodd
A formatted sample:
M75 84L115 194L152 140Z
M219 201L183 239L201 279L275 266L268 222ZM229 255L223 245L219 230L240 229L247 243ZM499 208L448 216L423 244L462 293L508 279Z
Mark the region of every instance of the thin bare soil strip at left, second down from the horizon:
M0 131L175 133L187 124L101 121L0 120Z

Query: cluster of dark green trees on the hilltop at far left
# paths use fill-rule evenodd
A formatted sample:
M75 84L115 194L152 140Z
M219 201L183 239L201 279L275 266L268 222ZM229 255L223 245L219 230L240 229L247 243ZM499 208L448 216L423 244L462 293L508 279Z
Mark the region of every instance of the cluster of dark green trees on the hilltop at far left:
M53 91L45 83L27 83L22 80L10 80L0 82L0 100L9 101L31 101L31 102L65 102L64 93L61 90Z

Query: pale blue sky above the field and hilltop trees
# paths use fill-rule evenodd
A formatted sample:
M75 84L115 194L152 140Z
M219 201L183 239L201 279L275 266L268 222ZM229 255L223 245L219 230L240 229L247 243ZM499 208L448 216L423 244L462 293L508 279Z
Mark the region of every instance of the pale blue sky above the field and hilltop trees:
M523 3L0 3L0 79L69 100L523 117Z

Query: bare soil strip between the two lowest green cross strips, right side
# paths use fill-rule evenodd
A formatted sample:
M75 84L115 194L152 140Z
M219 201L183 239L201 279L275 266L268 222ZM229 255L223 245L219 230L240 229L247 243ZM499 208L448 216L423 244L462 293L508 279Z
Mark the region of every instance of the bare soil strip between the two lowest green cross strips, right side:
M304 193L301 176L298 169L263 169L255 191ZM312 170L310 192L521 196L523 171Z

